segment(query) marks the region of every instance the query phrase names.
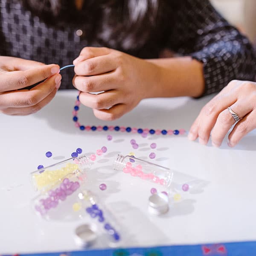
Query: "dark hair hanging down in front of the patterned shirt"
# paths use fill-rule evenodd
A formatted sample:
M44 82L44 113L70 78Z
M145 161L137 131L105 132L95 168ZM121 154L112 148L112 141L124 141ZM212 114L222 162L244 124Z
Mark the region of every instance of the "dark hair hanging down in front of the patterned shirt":
M76 9L74 0L22 1L34 15L55 26L67 22L81 25L82 20L89 42L133 49L157 33L155 28L165 22L165 3L172 0L85 0L81 11Z

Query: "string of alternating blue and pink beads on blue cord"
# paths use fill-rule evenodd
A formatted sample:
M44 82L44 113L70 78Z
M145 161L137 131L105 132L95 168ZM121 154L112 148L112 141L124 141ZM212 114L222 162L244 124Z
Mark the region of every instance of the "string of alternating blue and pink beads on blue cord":
M65 68L67 67L75 67L75 65L67 65L67 66L64 66L64 67L61 67L60 70L64 70ZM79 92L80 93L80 92ZM163 135L178 135L178 134L185 134L186 131L184 129L180 129L180 130L154 130L154 129L148 129L148 128L145 128L145 129L142 129L142 128L131 128L131 127L124 127L124 126L108 126L108 125L104 125L104 126L95 126L95 125L92 125L92 126L85 126L85 125L81 125L80 122L78 122L78 117L77 117L77 113L79 111L79 106L80 106L81 102L79 101L79 95L77 96L76 98L76 102L75 102L75 107L74 107L74 110L72 112L73 114L73 121L75 122L75 126L77 128L79 128L81 131L121 131L121 132L132 132L132 133L138 133L138 134L163 134Z

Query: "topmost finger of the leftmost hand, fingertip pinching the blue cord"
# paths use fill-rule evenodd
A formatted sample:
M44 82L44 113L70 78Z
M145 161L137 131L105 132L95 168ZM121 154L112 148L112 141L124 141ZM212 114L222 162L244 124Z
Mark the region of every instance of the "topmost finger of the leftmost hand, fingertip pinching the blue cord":
M1 74L0 92L17 90L36 84L59 72L55 64L44 65L30 70L12 71Z

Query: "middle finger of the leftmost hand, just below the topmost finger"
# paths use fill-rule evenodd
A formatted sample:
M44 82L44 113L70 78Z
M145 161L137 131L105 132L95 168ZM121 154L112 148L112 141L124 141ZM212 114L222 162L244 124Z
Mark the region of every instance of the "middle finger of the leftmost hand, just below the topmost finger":
M0 95L1 108L26 108L37 105L46 98L55 88L58 89L61 75L49 77L31 90L16 90Z

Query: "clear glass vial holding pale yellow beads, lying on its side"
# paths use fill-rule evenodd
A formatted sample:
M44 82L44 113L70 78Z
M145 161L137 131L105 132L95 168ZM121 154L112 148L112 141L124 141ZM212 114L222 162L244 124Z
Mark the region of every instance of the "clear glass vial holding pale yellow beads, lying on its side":
M59 182L70 173L82 174L90 169L90 160L87 156L71 157L51 166L41 167L30 174L32 185L36 191L47 191L49 188ZM38 166L39 167L39 166ZM80 175L79 177L83 177Z

